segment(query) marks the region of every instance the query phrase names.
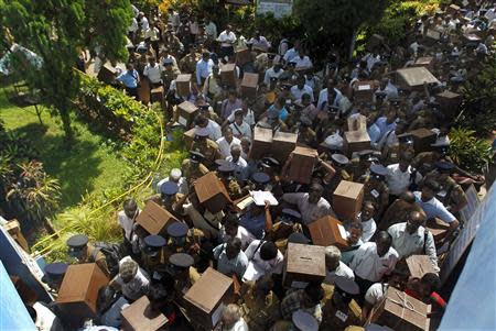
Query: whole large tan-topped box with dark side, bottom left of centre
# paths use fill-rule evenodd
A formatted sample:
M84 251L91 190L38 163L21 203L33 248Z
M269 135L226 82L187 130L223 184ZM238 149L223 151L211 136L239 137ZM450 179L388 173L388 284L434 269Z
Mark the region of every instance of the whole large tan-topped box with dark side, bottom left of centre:
M233 278L207 268L183 297L188 318L206 330L213 329L224 307L234 301L233 291Z

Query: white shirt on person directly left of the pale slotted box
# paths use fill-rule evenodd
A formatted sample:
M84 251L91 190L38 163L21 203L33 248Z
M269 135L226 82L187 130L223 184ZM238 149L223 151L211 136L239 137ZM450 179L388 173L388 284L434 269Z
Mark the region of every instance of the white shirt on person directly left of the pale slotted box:
M282 266L284 264L284 256L282 253L278 250L278 254L274 258L270 261L263 261L260 257L260 247L259 247L259 240L254 240L248 249L246 249L245 254L248 257L248 267L245 272L245 275L242 276L244 282L247 280L257 280L265 274L271 273L271 274L281 274L282 273ZM258 250L257 250L258 247Z

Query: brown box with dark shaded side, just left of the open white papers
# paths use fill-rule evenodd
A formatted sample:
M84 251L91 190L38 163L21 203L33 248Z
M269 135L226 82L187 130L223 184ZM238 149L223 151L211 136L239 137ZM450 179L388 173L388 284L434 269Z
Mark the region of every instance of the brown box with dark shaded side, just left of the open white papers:
M213 172L196 180L195 192L200 203L213 213L219 212L230 202L226 187Z

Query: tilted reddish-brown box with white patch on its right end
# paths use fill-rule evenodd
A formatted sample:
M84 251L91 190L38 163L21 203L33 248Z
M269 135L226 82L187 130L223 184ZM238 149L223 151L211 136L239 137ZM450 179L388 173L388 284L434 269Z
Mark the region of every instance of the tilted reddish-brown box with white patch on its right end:
M323 217L306 225L314 245L335 245L339 250L347 249L346 230L343 223L331 216Z

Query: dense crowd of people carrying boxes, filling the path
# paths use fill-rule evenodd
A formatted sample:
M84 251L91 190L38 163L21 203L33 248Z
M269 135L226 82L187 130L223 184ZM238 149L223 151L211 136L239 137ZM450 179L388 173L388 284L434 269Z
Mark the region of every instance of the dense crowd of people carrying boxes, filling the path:
M71 328L119 329L121 311L147 296L168 318L164 329L204 330L188 316L183 297L207 268L234 283L234 298L215 330L370 328L388 287L442 313L440 256L463 227L465 189L479 187L484 178L448 155L456 109L446 110L439 96L456 93L494 54L495 22L494 4L445 7L422 16L406 44L388 45L376 35L354 60L335 49L323 67L315 67L304 40L268 41L263 31L245 37L231 25L217 31L208 18L187 12L158 16L136 9L130 62L117 80L137 99L144 80L150 91L162 87L159 101L168 129L190 132L184 139L190 153L181 168L155 183L157 195L123 202L117 221L125 254L93 244L84 234L67 241L77 263L96 263L111 279L94 320L103 327ZM99 67L103 56L96 53ZM223 71L233 65L227 74L234 74L234 81ZM409 87L395 78L396 70L419 66L436 81ZM176 82L184 74L191 75L187 93ZM255 96L240 88L247 74L258 74ZM185 101L196 110L182 122L179 106ZM418 144L414 131L421 129L432 137L428 145ZM260 130L293 134L294 147L312 151L309 178L291 170L300 162L296 150L279 157L279 145L265 146ZM351 148L349 131L366 135L366 146ZM222 187L224 200L206 203L197 186L212 174L217 180L212 189ZM343 183L363 185L352 218L335 205ZM261 192L262 200L245 206L254 192ZM137 221L150 203L175 220L160 233L151 234ZM288 285L288 245L313 245L309 229L326 217L343 224L346 245L325 246L324 278ZM432 222L444 229L441 235L429 230ZM412 277L405 263L412 255L427 256L432 272ZM47 267L54 291L66 267ZM52 313L63 328L66 317L56 309Z

